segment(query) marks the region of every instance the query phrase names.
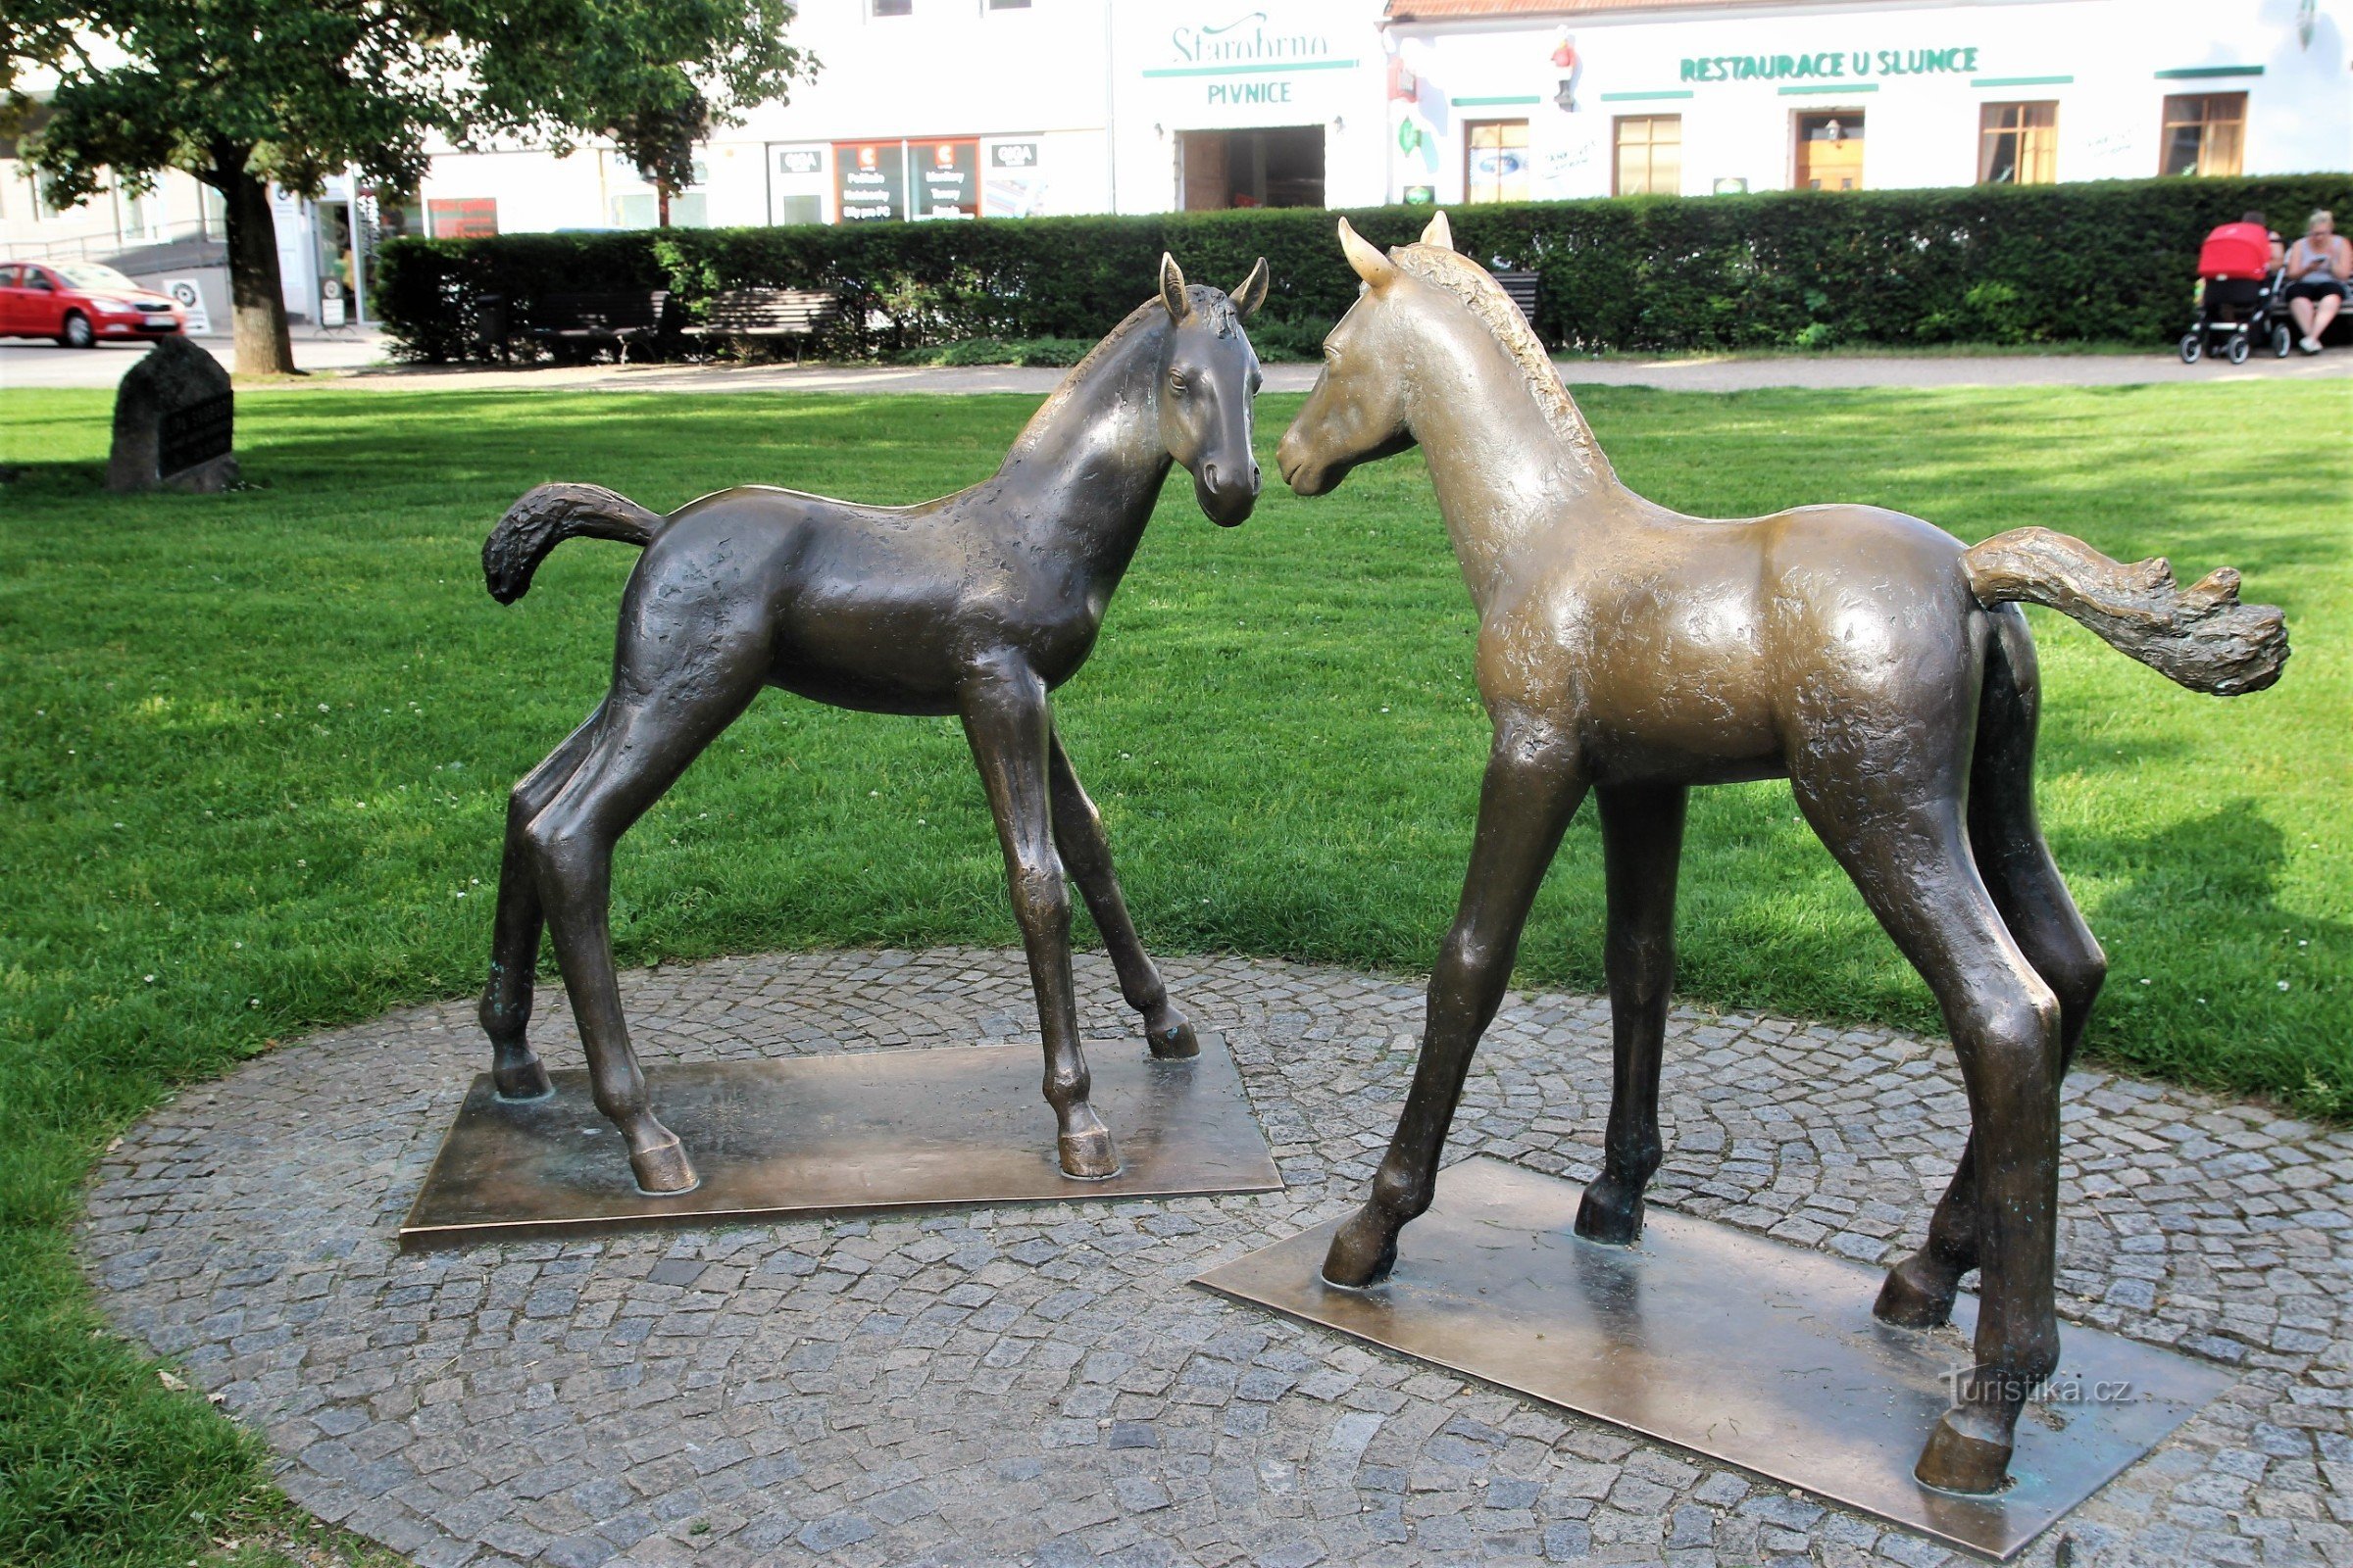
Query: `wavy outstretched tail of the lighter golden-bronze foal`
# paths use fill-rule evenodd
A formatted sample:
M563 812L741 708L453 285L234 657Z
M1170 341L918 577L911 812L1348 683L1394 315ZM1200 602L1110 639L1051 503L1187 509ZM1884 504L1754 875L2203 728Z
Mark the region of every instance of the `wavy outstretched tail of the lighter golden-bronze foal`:
M2231 567L2177 588L2162 555L2127 567L2052 529L1995 534L1960 567L1986 609L2019 599L2057 609L2191 691L2261 691L2287 663L2287 616L2240 604Z

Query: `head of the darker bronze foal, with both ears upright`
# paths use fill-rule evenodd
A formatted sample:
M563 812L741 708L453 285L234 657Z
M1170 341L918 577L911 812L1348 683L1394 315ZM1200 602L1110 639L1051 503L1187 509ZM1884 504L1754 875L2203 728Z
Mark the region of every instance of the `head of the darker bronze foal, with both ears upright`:
M1193 475L1193 498L1221 527L1235 527L1259 503L1249 404L1259 393L1259 355L1242 320L1266 301L1266 259L1233 294L1188 287L1176 259L1160 256L1160 306L1169 331L1160 357L1160 440Z

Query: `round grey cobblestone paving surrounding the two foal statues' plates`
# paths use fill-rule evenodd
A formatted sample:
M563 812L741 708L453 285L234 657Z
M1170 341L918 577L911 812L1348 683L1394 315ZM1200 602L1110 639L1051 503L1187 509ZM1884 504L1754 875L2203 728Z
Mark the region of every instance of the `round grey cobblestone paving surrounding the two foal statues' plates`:
M1226 1032L1287 1192L402 1258L393 1227L487 1056L445 1004L141 1124L99 1171L89 1274L125 1333L268 1434L296 1500L426 1568L1958 1561L1188 1288L1355 1201L1421 987L1165 969ZM1139 1051L1108 964L1082 957L1080 987L1092 1048ZM624 992L654 1060L1035 1037L1005 952L722 959ZM576 1063L560 999L541 1011L541 1051ZM1515 997L1449 1152L1591 1175L1607 1037L1598 999ZM1864 1260L1918 1239L1962 1121L1925 1041L1694 1011L1664 1100L1657 1201ZM2064 1314L2240 1371L2061 1526L2073 1563L2353 1563L2348 1211L2353 1135L2071 1079Z

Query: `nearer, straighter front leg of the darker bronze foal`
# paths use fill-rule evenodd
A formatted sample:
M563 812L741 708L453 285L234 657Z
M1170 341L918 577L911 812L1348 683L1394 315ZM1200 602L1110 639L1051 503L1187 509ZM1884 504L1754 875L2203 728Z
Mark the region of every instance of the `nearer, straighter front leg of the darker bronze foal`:
M1045 1100L1054 1107L1064 1175L1118 1175L1111 1131L1087 1103L1092 1081L1078 1044L1078 997L1071 985L1071 889L1054 853L1054 719L1045 682L1014 654L976 668L958 691L965 741L981 769L988 809L1005 846L1014 922L1028 950L1038 1032L1045 1037Z

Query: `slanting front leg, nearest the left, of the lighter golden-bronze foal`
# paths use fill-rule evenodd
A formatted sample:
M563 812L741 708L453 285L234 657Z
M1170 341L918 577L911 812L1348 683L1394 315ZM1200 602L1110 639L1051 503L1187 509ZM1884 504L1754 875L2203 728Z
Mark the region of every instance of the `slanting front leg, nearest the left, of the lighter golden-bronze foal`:
M1471 1074L1471 1053L1504 1006L1527 910L1584 797L1574 741L1539 724L1497 724L1471 872L1431 973L1414 1088L1372 1178L1372 1197L1332 1237L1322 1267L1329 1284L1362 1288L1386 1276L1398 1262L1398 1232L1438 1197L1438 1157Z

